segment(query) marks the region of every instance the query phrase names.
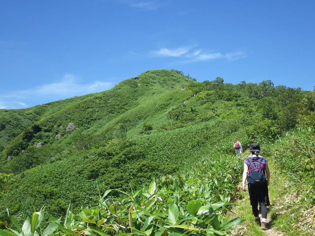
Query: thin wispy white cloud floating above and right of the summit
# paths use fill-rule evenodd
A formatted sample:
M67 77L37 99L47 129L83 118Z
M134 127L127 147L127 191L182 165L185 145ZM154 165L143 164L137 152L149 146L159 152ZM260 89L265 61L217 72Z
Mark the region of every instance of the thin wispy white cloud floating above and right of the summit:
M214 60L214 59L227 59L236 60L246 57L244 52L232 53L204 53L202 49L193 51L193 47L181 47L177 49L161 48L158 51L151 52L154 56L158 57L176 57L183 59L183 62Z

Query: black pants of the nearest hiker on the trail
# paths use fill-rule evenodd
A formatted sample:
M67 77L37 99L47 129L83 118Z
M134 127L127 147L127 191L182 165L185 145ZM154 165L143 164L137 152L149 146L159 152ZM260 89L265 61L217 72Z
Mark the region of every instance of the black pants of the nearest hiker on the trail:
M267 207L269 206L268 185L248 186L250 193L252 213L255 217L258 216L258 203L261 208L261 217L267 219Z

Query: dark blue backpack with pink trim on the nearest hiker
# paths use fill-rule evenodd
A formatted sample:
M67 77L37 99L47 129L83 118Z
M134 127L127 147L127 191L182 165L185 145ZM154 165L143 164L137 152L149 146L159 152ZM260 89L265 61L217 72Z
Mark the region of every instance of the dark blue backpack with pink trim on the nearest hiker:
M258 158L247 158L247 160L250 162L249 168L248 168L248 174L247 174L247 181L248 184L251 184L252 186L259 186L267 183L267 177L265 176L264 169L262 166L262 157Z

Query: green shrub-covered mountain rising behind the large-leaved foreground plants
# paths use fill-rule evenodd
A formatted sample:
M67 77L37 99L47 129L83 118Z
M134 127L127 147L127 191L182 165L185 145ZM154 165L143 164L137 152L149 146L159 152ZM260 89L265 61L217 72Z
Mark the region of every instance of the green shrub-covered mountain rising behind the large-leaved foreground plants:
M16 216L44 206L62 216L69 203L96 206L108 189L131 193L152 179L188 173L209 180L209 198L236 200L243 164L233 144L259 142L273 156L272 145L297 124L314 128L312 96L271 81L198 83L180 71L153 70L104 92L2 109L0 219L9 222L6 207ZM309 161L295 168L299 179L314 178L310 147Z

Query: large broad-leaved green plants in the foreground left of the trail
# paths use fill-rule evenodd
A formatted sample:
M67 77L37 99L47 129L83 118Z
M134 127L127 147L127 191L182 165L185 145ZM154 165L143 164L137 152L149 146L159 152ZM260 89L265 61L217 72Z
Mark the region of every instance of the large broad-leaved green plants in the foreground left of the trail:
M78 209L77 213L69 207L64 227L60 225L61 219L50 216L52 222L41 235L226 235L227 228L239 225L244 219L226 219L229 198L211 204L209 194L200 191L202 184L196 178L186 181L184 176L169 176L162 177L158 184L152 181L149 188L138 189L132 195L124 193L126 198L106 198L111 191L119 191L107 190L100 199L95 199L98 207ZM0 231L0 236L39 235L37 229L43 214L43 209L33 213L23 229L10 216L20 233L9 229Z

